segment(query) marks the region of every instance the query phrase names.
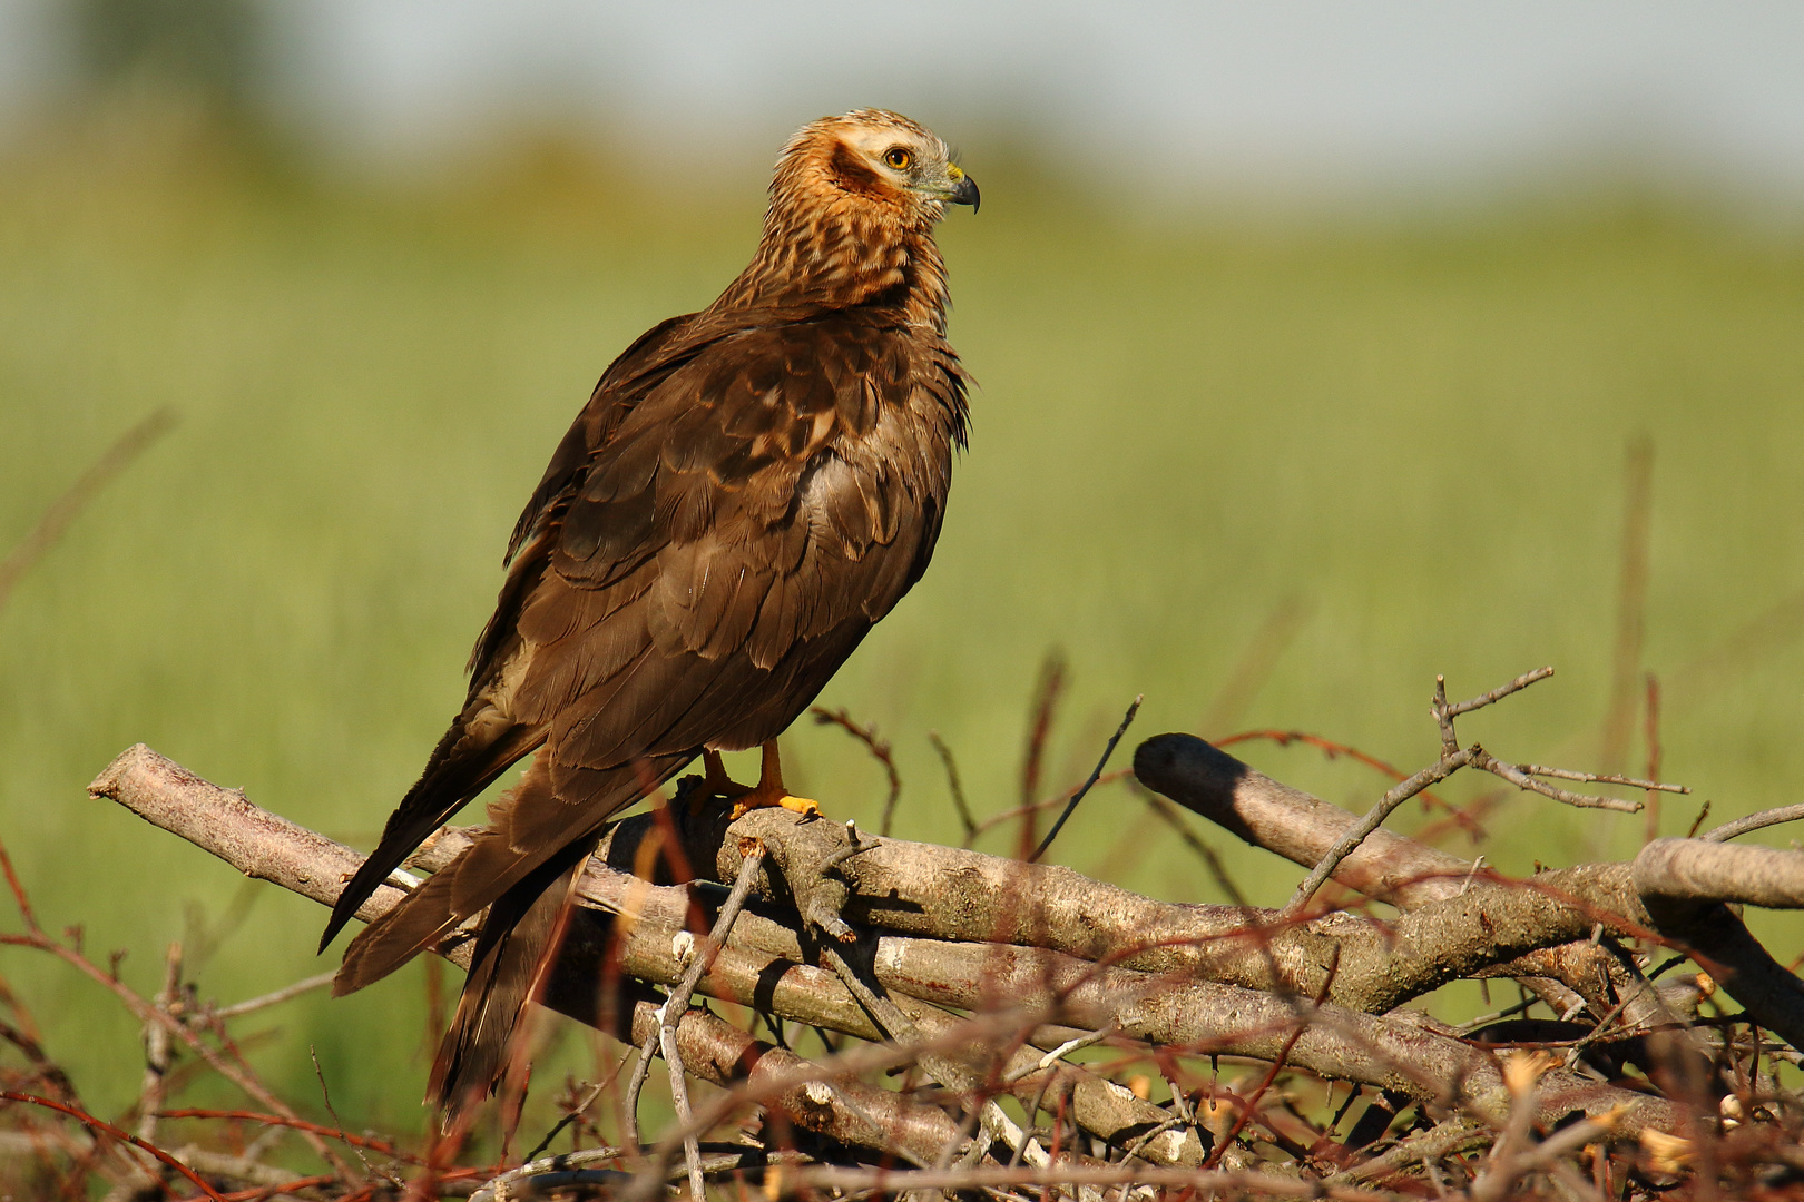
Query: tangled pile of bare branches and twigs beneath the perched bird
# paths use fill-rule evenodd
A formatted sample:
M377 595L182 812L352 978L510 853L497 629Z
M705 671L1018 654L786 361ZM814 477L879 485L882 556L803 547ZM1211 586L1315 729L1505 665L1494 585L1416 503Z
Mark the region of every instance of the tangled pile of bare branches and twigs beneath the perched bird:
M1788 1085L1804 986L1739 917L1804 906L1804 852L1728 842L1804 806L1528 879L1380 825L1459 771L1582 807L1642 802L1551 782L1680 791L1461 741L1456 719L1546 674L1458 705L1438 687L1438 759L1364 816L1192 735L1142 742L1120 777L1203 856L1225 905L1144 897L1037 852L781 809L732 820L686 784L588 863L541 997L619 1040L617 1067L498 1164L464 1162L462 1132L422 1144L310 1123L249 1070L229 1022L323 979L222 1009L184 991L171 955L143 998L47 935L7 865L25 928L4 939L119 995L148 1069L135 1112L103 1123L29 1025L7 1025L27 1063L7 1070L0 1137L65 1180L99 1173L115 1198L1804 1197L1804 1096ZM1066 815L1102 766L1055 798ZM361 863L144 746L90 791L321 905ZM1178 807L1304 869L1288 905L1247 905ZM444 829L359 917L467 840ZM469 935L438 953L467 964ZM1521 1002L1461 1027L1409 1007L1459 979L1514 980ZM168 1108L175 1049L247 1108ZM675 1117L644 1132L658 1060ZM224 1125L218 1146L159 1143L197 1115ZM294 1132L318 1157L305 1177L265 1161Z

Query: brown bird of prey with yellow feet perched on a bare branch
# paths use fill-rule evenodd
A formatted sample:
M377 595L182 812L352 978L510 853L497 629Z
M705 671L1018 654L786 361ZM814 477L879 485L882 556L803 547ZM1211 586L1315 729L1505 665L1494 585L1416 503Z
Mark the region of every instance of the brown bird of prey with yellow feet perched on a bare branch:
M449 1125L507 1061L604 822L696 755L763 746L741 806L783 804L776 737L920 578L965 443L945 341L938 137L859 110L783 148L750 265L603 373L507 544L469 694L345 887L321 950L511 764L489 825L345 952L334 993L487 908L428 1101ZM801 806L788 798L792 806Z

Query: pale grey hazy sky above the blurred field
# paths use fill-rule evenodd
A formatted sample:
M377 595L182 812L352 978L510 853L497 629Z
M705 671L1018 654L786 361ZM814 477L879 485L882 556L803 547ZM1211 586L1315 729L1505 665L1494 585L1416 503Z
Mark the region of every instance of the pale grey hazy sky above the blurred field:
M0 106L54 0L0 0ZM1804 202L1804 0L280 0L283 92L410 157L520 114L769 159L862 105L1147 182L1393 191L1598 155ZM756 153L750 153L756 151ZM1075 169L1075 168L1073 168Z

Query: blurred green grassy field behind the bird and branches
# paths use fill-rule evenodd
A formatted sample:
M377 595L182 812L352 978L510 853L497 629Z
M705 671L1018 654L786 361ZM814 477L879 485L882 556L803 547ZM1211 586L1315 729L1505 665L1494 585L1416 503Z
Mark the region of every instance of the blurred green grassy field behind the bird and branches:
M1221 714L1286 607L1295 638L1234 726L1413 768L1436 750L1436 672L1476 694L1553 663L1467 733L1591 766L1638 434L1656 449L1643 660L1665 681L1665 775L1714 818L1797 800L1799 231L1615 187L1422 220L1115 211L962 141L987 204L942 245L981 382L972 447L933 571L823 696L895 742L898 834L956 838L929 730L980 811L1016 804L1050 647L1070 658L1063 786L1135 694L1122 762L1137 737ZM45 146L0 186L0 551L130 423L182 420L0 611L0 836L49 928L128 948L146 993L166 941L215 942L200 991L229 1002L319 971L323 912L83 786L144 741L372 843L462 696L554 442L615 351L743 265L761 180L644 195L624 166L545 150L373 186L121 133ZM1344 804L1382 789L1302 748L1238 750ZM875 825L882 775L844 733L797 728L787 755L792 784ZM1698 798L1669 806L1667 833ZM1640 818L1533 797L1492 829L1508 872L1640 840ZM1203 834L1254 901L1301 876ZM1088 800L1054 858L1216 899L1124 791ZM1763 923L1781 959L1804 952L1797 917ZM43 957L0 971L85 1096L124 1106L123 1011ZM346 1125L420 1121L417 968L271 1025L253 1058L296 1097L316 1096L314 1045ZM572 1043L572 1070L584 1056Z

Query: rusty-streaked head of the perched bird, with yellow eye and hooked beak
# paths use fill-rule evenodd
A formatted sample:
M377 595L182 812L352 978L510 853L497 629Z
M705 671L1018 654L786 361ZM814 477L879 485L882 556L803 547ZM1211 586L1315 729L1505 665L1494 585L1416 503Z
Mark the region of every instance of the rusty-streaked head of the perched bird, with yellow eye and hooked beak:
M783 148L772 193L933 223L947 204L978 209L978 186L934 133L902 114L861 108L805 124Z

